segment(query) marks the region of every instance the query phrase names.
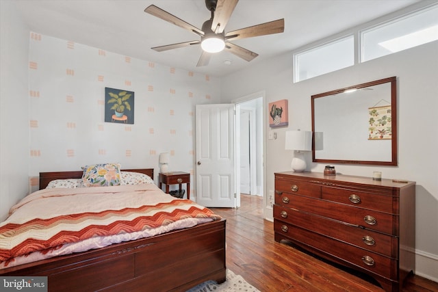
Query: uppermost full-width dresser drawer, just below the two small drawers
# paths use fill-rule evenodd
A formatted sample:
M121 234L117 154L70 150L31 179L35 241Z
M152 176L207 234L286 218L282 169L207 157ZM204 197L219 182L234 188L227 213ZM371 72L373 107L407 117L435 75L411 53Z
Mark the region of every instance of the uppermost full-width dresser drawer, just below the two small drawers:
M398 236L398 224L396 224L398 216L396 215L289 194L277 195L275 204L322 217L329 217L351 225L386 233L387 235Z

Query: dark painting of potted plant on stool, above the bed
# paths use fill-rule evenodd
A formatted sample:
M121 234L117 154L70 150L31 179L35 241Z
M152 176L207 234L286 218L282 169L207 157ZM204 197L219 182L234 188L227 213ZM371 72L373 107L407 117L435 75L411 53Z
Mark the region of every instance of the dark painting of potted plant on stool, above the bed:
M134 123L134 92L105 88L105 122Z

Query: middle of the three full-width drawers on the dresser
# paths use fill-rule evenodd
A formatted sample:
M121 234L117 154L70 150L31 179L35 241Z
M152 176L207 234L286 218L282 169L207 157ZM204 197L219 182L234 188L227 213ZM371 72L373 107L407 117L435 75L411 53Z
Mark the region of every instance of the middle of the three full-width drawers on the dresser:
M376 233L357 226L339 223L324 217L302 213L274 205L274 218L315 233L321 233L359 248L370 250L391 258L398 258L398 237Z

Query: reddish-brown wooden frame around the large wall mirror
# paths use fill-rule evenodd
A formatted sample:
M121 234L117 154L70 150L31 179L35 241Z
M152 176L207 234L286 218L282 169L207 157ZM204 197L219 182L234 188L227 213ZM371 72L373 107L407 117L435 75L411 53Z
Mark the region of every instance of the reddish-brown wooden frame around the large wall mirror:
M346 90L368 88L370 86L379 85L383 83L391 83L391 161L363 161L363 160L342 160L342 159L316 159L315 158L315 98L323 98L324 96L331 96L333 94L339 94ZM312 110L312 161L324 162L324 163L351 163L351 164L368 164L368 165L389 165L397 166L397 79L396 77L389 77L358 85L353 85L347 88L341 88L338 90L332 90L321 94L315 94L311 96L311 110Z

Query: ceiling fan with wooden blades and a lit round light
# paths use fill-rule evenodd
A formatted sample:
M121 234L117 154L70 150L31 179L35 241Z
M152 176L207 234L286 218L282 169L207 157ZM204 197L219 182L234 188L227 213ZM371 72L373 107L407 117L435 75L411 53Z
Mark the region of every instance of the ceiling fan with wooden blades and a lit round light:
M218 53L223 49L226 49L230 53L233 53L248 62L251 61L258 56L257 53L239 47L229 41L281 33L285 29L285 21L284 18L282 18L276 21L261 23L252 27L246 27L225 33L225 26L237 5L237 1L239 0L205 0L205 5L211 12L211 18L205 21L202 29L198 29L190 23L186 23L177 16L174 16L155 5L150 5L144 10L144 12L162 18L164 21L168 21L169 23L182 27L183 29L187 29L188 31L192 31L194 34L201 37L201 40L179 42L177 44L168 44L165 46L153 47L151 49L157 52L162 52L181 47L188 47L193 44L201 44L203 53L201 54L196 66L206 66L209 63L211 54Z

